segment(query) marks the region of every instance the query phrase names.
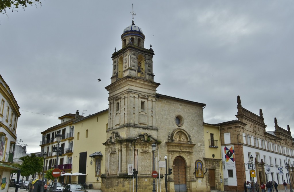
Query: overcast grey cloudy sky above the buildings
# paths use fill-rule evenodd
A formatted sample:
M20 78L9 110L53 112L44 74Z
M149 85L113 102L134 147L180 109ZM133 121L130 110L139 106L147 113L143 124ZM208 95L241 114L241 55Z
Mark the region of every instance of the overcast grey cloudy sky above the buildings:
M132 4L155 53L158 93L205 103L212 124L236 119L240 95L246 109L263 110L267 131L277 117L294 133L293 1L41 2L0 15L0 74L20 106L17 137L28 153L58 117L108 108L111 55Z

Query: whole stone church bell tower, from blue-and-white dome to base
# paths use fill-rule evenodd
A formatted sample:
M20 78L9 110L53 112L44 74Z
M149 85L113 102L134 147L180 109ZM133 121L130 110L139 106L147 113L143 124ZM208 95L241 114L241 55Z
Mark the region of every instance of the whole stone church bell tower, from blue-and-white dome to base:
M130 169L140 170L138 178L149 179L151 145L160 144L156 126L156 89L160 84L154 82L154 52L151 45L144 48L144 41L142 29L132 21L121 35L122 48L115 49L111 57L111 84L105 87L109 110L107 140L103 143L107 161L103 191L112 190L107 183L127 182ZM140 162L140 158L146 160Z

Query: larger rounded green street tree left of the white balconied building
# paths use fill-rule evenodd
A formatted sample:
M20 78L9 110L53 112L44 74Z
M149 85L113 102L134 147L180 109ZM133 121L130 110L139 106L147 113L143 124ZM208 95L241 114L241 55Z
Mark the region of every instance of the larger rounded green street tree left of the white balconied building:
M29 175L34 175L37 172L43 171L43 158L37 157L35 154L31 154L31 156L23 156L19 158L22 160L21 175L28 178Z

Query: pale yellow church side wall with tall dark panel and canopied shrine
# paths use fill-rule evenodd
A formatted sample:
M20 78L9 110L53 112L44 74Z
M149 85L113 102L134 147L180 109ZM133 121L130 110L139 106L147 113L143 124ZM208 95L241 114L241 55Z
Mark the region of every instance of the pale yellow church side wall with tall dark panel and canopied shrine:
M101 188L101 174L105 166L105 146L108 127L108 109L74 122L74 151L72 172L86 175L68 176L71 182L90 184L93 189Z

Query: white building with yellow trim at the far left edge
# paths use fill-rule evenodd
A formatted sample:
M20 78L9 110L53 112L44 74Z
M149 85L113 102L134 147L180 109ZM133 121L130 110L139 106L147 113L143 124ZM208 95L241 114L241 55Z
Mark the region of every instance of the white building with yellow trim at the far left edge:
M0 179L2 192L9 188L10 173L18 168L11 166L14 156L19 106L0 75Z

